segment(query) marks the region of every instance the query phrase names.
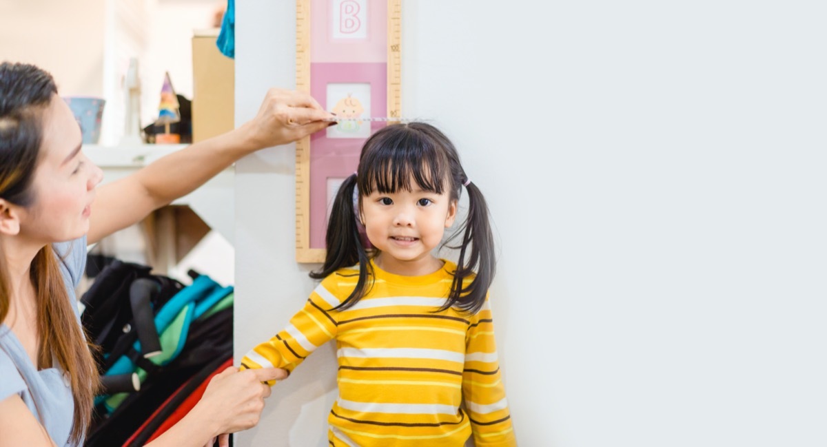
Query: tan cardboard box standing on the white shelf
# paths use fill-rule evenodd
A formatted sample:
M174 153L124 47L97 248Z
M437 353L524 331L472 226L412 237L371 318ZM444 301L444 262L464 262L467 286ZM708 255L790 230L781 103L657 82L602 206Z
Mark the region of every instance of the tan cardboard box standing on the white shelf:
M218 31L193 35L193 142L235 128L235 62L215 45Z

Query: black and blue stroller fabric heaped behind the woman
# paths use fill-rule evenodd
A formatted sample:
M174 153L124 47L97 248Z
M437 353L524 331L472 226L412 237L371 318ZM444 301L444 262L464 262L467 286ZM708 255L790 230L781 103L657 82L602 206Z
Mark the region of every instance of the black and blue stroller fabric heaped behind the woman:
M194 286L184 288L178 281L150 271L140 264L115 261L98 274L81 299L85 306L81 321L92 340L101 346L97 361L104 384L95 401L84 445L142 445L141 441L147 439L142 426L170 396L206 370L212 372L218 360L232 358L232 297L227 296L232 288L221 288L211 279L200 277L194 283L203 293L191 297L193 294L188 292ZM209 287L200 287L207 283ZM221 300L223 305L218 305L219 296L227 298ZM231 305L227 306L227 300ZM179 334L177 348L170 352L168 336L165 352L161 353L160 333L166 327L156 329L156 323L170 311L182 316L177 321L186 324L184 329L170 328ZM152 359L155 354L163 362ZM125 362L133 369L124 370ZM118 373L112 373L115 370ZM117 404L113 405L112 395L117 392L127 394L115 396L122 399L114 399ZM155 428L162 421L151 422L150 428Z

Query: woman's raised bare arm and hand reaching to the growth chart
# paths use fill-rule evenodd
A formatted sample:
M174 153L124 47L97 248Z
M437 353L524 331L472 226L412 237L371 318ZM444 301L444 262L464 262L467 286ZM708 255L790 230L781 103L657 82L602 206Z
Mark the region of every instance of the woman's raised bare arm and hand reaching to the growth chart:
M321 131L330 124L322 120L329 117L332 115L304 93L270 90L252 121L98 188L89 218L88 243L131 226L191 193L245 155Z

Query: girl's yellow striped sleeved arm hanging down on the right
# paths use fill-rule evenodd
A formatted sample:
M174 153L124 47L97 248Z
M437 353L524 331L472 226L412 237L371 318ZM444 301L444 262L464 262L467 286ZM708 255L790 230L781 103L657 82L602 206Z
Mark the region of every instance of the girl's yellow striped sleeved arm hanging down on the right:
M517 445L511 413L500 377L494 340L494 320L488 298L471 318L466 334L466 362L462 372L462 398L471 420L476 447Z

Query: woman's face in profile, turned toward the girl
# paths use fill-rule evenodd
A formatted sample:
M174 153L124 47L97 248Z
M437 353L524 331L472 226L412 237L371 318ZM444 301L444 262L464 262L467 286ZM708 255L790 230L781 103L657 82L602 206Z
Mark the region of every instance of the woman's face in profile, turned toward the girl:
M89 230L95 187L103 171L81 152L82 136L69 106L57 95L43 115L34 202L22 211L20 234L39 243L73 240Z

